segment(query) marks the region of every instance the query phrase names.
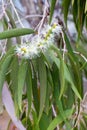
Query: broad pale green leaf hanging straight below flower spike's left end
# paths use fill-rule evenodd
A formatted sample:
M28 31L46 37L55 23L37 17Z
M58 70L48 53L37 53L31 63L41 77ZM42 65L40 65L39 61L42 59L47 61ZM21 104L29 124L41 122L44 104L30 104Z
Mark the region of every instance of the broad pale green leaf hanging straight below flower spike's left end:
M18 106L20 110L22 109L22 92L25 83L26 72L27 62L25 60L22 60L18 72Z

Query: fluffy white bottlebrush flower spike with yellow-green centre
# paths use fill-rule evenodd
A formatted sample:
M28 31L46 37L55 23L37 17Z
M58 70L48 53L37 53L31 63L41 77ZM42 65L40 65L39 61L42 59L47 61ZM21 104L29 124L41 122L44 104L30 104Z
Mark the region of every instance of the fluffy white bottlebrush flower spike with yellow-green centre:
M35 36L30 43L24 43L16 46L16 53L21 58L33 59L38 57L41 52L55 43L55 36L59 36L61 26L53 24L52 26L45 26L42 30L41 36Z

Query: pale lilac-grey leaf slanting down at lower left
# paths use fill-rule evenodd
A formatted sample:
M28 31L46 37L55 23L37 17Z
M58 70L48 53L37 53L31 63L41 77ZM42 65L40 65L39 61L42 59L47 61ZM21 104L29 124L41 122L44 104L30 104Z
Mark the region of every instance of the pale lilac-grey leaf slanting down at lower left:
M11 97L11 93L8 89L8 84L5 82L3 89L2 89L2 100L3 104L6 108L6 111L8 112L11 120L13 121L14 125L19 129L19 130L26 130L26 128L22 125L21 121L18 120L15 114L15 109L14 109L14 103Z

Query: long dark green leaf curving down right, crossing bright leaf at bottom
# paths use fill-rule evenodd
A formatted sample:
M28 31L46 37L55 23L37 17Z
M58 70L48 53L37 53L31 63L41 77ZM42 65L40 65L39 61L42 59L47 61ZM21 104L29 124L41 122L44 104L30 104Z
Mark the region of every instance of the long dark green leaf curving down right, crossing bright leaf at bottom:
M71 126L70 126L70 124L68 123L68 121L65 118L65 113L64 113L62 100L59 99L59 96L60 96L60 82L59 82L59 79L58 79L59 78L58 75L59 75L59 70L58 70L57 66L54 64L53 72L52 72L53 83L54 83L54 100L55 100L56 106L58 108L58 112L60 113L61 117L63 118L63 121L65 122L66 129L70 130Z

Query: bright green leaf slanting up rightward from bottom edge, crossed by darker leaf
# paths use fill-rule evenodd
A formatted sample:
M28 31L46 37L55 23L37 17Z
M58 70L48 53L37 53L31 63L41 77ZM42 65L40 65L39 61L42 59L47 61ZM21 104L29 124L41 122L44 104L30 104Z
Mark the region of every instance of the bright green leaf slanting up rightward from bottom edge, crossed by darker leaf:
M73 113L73 110L66 110L64 111L65 113L65 118L67 119L68 117L70 117ZM61 117L61 115L59 114L57 117L54 118L54 120L51 122L51 124L49 125L49 127L47 128L47 130L54 130L56 128L57 125L59 125L60 123L62 123L64 120Z

